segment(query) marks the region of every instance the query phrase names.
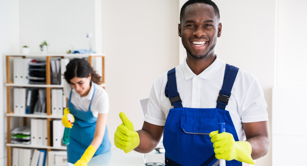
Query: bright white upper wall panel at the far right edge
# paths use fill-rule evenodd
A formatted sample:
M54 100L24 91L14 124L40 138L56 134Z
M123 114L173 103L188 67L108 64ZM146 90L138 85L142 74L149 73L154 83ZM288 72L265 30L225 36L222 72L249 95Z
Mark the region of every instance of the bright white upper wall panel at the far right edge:
M306 6L305 0L278 0L278 86L307 86Z

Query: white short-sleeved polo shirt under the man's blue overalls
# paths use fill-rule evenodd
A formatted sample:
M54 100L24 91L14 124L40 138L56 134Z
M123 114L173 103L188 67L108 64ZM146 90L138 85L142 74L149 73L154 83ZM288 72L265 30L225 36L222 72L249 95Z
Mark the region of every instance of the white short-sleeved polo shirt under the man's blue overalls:
M188 67L186 57L184 63L176 67L177 89L183 107L216 108L226 63L220 60L217 54L215 56L216 60L199 75L194 74ZM169 109L173 108L169 98L165 97L166 82L167 72L153 82L145 116L148 123L164 126ZM230 113L240 141L244 139L242 123L268 121L266 107L257 78L239 69L226 110Z

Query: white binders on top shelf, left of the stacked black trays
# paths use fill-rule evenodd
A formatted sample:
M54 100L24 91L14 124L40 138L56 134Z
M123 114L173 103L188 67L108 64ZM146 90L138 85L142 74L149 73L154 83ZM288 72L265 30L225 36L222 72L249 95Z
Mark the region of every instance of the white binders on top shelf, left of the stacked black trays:
M29 58L15 58L13 60L14 84L29 84L29 61Z

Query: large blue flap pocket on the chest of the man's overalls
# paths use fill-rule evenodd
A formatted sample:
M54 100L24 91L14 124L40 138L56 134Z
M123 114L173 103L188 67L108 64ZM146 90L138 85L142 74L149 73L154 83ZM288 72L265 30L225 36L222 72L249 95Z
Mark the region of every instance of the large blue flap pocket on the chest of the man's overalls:
M214 153L209 133L218 130L218 118L181 117L177 124L177 161L201 165Z

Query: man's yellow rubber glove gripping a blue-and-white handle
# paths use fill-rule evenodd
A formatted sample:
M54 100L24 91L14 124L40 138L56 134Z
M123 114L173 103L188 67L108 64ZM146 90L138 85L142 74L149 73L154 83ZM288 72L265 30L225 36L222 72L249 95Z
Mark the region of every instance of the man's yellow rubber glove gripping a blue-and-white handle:
M233 135L228 132L210 132L211 142L217 159L237 160L255 165L251 158L251 144L247 141L235 141Z

